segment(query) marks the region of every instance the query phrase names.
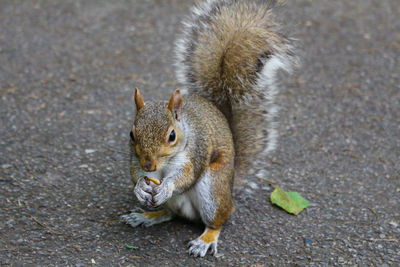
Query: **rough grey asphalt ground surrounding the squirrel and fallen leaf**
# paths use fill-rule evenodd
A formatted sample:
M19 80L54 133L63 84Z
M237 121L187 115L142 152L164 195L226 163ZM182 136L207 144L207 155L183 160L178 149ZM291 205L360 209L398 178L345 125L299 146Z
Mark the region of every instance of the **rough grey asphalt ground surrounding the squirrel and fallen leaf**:
M0 264L400 265L400 3L287 1L301 67L281 74L279 146L235 190L217 257L203 226L131 228L133 88L178 88L173 42L193 1L0 2ZM310 201L273 206L273 186ZM137 246L128 249L126 244Z

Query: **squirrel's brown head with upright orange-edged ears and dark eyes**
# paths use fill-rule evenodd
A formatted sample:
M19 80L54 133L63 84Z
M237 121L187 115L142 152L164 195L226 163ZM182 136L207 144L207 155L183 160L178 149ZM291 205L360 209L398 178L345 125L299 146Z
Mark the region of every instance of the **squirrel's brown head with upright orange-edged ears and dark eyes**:
M182 96L175 90L169 103L144 103L135 89L136 119L130 132L131 145L142 169L156 171L179 152L182 131L179 127Z

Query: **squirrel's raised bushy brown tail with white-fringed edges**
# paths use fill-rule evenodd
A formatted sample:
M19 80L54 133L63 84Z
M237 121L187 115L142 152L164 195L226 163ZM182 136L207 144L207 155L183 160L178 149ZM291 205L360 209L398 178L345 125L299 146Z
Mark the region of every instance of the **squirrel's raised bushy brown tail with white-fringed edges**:
M179 82L227 116L242 170L275 147L275 76L296 61L275 23L276 2L208 0L192 9L176 45Z

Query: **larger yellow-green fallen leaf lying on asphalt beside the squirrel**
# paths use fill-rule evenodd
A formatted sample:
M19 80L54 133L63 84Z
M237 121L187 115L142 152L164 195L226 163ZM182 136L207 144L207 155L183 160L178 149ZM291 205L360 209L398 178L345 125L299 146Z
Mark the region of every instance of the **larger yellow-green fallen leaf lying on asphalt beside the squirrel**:
M271 202L295 215L307 208L309 204L307 199L303 198L299 193L285 192L279 186L275 187L274 192L272 192Z

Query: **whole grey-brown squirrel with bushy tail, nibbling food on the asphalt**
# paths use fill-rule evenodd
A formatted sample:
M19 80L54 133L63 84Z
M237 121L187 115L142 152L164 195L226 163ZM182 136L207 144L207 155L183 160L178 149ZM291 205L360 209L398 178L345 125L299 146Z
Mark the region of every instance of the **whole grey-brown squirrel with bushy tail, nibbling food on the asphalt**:
M207 0L194 6L176 43L182 90L144 102L135 89L131 175L141 204L161 210L122 216L133 227L175 216L205 224L189 254L217 253L234 210L233 178L275 146L276 73L296 63L276 23L278 0ZM240 173L240 172L239 172Z

